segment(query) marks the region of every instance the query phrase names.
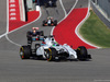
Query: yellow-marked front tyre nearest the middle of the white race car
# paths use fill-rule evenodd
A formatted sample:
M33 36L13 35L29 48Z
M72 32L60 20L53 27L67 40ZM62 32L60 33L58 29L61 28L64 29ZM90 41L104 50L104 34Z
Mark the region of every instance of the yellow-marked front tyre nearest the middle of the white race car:
M55 48L48 48L46 50L46 58L47 58L47 61L53 61L55 60L55 56L57 55L57 51Z

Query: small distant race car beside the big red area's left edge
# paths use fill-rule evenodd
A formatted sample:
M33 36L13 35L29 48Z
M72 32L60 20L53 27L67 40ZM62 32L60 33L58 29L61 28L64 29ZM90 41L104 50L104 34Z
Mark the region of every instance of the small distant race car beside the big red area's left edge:
M52 16L48 16L47 20L43 21L43 26L56 26L57 20L53 21Z

